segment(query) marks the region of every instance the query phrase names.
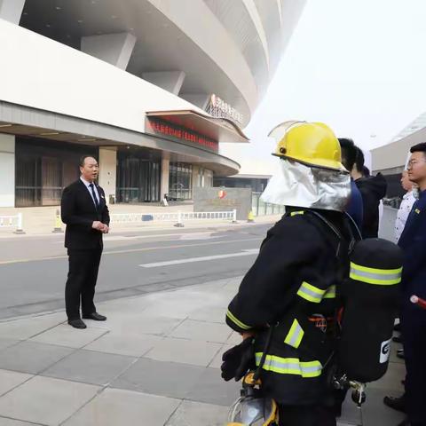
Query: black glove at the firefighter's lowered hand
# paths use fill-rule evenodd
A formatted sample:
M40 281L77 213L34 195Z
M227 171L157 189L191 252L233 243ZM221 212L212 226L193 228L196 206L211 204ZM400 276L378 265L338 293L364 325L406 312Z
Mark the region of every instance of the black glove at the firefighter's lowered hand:
M222 378L228 382L235 379L239 382L249 369L255 369L255 345L254 338L248 337L240 344L225 351L222 355Z

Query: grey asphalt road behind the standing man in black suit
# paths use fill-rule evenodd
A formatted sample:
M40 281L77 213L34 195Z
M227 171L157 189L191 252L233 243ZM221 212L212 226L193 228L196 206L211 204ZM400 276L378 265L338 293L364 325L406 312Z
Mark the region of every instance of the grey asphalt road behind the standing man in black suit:
M105 238L97 300L242 275L270 226L112 233ZM64 306L63 238L0 240L0 319Z

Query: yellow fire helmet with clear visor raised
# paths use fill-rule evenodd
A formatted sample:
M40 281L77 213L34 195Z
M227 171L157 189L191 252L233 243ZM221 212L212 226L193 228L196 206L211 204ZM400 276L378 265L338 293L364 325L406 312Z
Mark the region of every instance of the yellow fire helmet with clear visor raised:
M268 136L277 141L272 155L310 167L347 171L342 164L339 141L323 122L281 122Z

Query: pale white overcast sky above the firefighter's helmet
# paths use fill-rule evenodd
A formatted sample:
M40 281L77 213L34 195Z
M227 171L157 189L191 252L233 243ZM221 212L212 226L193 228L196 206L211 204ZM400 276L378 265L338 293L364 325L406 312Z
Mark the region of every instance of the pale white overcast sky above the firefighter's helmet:
M307 0L244 130L250 146L224 154L269 161L267 134L287 120L326 122L364 151L389 143L426 111L425 22L424 0Z

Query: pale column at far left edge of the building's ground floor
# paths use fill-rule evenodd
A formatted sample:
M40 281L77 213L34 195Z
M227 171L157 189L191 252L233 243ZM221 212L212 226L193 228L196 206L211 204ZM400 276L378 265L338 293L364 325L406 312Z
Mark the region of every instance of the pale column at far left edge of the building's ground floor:
M15 137L0 134L0 207L15 207Z

